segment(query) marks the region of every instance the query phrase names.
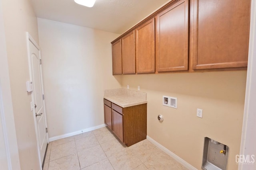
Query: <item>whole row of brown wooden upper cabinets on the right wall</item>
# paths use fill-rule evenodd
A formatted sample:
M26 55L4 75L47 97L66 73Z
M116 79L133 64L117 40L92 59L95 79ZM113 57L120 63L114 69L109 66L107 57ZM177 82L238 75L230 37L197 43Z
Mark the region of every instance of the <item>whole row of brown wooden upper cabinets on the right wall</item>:
M113 74L246 69L250 3L170 1L112 42Z

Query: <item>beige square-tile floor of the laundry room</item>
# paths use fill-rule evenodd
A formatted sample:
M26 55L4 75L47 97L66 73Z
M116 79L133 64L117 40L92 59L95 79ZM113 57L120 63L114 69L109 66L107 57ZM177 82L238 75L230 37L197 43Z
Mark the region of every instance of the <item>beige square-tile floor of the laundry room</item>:
M187 170L148 140L126 147L108 128L50 142L44 170Z

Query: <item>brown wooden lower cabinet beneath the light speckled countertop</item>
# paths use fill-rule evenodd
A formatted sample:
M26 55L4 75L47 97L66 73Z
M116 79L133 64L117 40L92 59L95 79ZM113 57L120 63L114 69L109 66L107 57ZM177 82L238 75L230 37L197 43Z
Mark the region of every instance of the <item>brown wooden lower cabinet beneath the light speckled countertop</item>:
M112 110L111 125L109 121L109 109ZM127 147L146 139L147 104L120 107L104 99L104 116L107 127Z

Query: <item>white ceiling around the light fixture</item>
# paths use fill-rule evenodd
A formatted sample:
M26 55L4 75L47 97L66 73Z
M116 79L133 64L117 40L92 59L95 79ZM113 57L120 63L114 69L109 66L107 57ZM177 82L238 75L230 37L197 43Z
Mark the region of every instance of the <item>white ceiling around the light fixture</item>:
M92 8L74 0L31 0L36 16L122 34L170 0L96 0Z

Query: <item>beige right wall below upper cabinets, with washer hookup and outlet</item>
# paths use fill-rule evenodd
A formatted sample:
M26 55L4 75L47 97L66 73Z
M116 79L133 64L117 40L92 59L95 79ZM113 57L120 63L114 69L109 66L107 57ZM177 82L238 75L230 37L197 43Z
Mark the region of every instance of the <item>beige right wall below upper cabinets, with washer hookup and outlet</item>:
M238 168L246 71L124 75L122 87L127 84L147 93L149 137L197 169L204 137L210 137L230 148L228 170ZM162 96L177 97L178 109L162 106ZM197 108L203 109L202 119Z

